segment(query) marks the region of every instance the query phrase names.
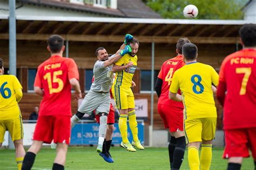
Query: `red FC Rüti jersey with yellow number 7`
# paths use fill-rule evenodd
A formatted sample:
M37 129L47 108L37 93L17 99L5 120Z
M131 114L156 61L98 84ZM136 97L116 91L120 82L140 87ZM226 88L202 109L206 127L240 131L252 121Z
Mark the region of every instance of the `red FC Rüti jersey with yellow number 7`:
M256 127L256 50L244 49L227 56L219 76L219 85L224 84L227 90L224 129Z

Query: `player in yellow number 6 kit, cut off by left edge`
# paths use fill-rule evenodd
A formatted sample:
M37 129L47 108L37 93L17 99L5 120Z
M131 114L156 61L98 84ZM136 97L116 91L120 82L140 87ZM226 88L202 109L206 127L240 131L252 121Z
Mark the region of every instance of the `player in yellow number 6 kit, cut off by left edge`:
M3 74L4 64L0 58L0 147L4 141L5 131L8 130L14 141L17 166L21 169L25 155L22 115L18 106L22 99L22 86L15 76Z

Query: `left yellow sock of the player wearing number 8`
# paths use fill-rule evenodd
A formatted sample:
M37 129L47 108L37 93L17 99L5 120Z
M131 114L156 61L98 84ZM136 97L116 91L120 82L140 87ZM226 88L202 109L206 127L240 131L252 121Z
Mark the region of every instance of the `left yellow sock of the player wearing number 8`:
M188 147L188 164L191 170L199 170L199 151L197 147Z

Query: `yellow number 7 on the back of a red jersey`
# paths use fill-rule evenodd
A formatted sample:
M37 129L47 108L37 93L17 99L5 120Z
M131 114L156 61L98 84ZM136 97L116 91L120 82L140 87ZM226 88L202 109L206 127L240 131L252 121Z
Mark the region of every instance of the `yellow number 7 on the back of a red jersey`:
M242 74L244 73L244 78L242 78L242 84L241 84L241 89L240 89L240 95L244 95L246 93L246 86L249 80L249 77L252 73L252 68L251 67L241 67L241 68L236 68L235 73L237 74Z

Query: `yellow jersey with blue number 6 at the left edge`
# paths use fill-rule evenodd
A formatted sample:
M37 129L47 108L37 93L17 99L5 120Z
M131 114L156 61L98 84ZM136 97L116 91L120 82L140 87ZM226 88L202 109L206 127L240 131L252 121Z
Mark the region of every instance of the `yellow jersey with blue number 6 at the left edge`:
M15 90L22 89L21 83L13 75L0 75L0 120L21 117Z

